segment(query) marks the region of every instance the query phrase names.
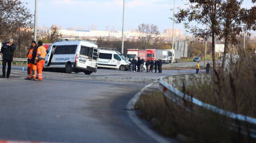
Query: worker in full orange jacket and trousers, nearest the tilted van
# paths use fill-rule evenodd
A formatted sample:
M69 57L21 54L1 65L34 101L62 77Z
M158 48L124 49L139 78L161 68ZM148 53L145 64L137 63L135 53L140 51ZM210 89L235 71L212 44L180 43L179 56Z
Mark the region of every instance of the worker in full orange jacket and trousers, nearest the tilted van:
M36 50L36 69L38 71L37 79L36 81L42 81L43 80L43 67L44 67L44 60L46 58L46 48L43 46L42 41L38 41L38 50Z

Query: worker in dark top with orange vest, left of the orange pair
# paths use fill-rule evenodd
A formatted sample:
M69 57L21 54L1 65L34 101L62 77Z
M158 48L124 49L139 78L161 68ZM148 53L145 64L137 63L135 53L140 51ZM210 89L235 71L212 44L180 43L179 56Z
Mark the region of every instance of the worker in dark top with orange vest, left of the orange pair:
M36 79L36 41L31 42L30 50L27 53L27 78L25 80L35 80Z

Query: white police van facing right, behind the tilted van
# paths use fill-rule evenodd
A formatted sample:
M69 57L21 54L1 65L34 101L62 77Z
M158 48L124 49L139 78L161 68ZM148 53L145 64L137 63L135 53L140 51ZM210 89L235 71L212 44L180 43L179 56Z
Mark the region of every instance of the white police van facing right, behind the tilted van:
M130 62L119 51L107 47L99 47L99 49L98 67L128 70Z

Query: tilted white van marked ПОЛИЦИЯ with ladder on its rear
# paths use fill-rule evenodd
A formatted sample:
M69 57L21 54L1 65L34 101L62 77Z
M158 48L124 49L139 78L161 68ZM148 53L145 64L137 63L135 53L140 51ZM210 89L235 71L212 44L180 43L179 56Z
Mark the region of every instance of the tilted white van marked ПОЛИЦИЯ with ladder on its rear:
M89 41L58 41L47 50L44 68L65 70L67 73L84 72L90 75L97 71L98 46Z

